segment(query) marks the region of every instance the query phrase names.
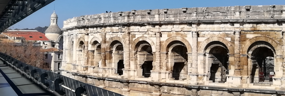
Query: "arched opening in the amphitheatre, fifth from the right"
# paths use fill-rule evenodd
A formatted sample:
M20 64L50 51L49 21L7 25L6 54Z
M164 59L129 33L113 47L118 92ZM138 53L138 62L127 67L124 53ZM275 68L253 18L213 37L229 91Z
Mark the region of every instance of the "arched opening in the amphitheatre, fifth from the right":
M118 41L114 40L110 44L109 51L106 51L106 56L109 56L110 63L107 63L107 67L113 67L115 70L114 73L117 75L123 75L122 69L125 68L124 66L124 47L123 44ZM108 53L108 54L107 54ZM107 59L107 58L106 58Z

